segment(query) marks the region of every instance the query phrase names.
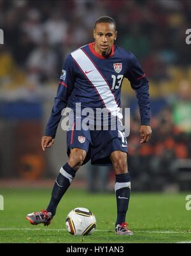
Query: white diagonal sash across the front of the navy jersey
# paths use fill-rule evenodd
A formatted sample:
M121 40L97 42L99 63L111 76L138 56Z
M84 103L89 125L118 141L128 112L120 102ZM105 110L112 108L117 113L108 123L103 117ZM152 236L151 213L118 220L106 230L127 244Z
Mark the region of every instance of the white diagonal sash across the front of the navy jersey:
M92 85L96 88L97 93L103 100L106 108L111 112L113 116L119 116L122 118L122 114L119 113L120 107L118 107L115 101L115 96L111 93L111 89L108 86L106 80L104 80L101 73L97 70L94 63L88 58L83 50L78 49L71 53L71 56L80 66L85 76L90 80Z

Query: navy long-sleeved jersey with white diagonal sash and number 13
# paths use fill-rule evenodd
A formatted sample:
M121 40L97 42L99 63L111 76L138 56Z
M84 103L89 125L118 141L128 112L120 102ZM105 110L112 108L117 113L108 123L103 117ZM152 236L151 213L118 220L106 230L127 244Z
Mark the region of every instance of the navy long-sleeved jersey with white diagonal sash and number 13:
M110 56L103 57L90 43L67 56L60 76L55 103L45 135L55 137L62 109L75 110L76 103L84 108L106 108L117 116L120 110L120 93L124 77L136 91L141 124L150 124L148 80L136 57L113 45Z

